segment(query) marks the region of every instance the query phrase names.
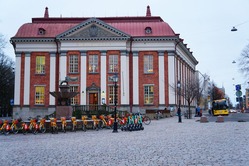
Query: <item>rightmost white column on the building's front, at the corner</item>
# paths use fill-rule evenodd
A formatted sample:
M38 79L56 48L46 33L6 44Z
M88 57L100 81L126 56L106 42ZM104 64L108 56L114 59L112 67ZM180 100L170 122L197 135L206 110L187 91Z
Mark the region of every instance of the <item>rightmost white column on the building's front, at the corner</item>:
M176 104L175 100L175 91L174 89L171 88L171 86L175 86L175 55L174 53L168 53L168 79L169 79L169 85L168 85L168 90L169 90L169 104Z

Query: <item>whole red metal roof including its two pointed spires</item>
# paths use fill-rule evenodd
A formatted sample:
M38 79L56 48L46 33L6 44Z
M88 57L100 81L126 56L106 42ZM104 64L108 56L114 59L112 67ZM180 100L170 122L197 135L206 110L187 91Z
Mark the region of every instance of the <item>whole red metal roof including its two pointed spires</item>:
M50 18L46 7L43 18L33 18L32 23L22 25L14 37L54 38L88 19L90 18ZM151 16L149 6L147 6L145 17L99 17L97 19L132 37L176 36L172 28L161 17ZM151 28L152 33L145 33L147 27ZM41 28L45 30L45 35L39 34Z

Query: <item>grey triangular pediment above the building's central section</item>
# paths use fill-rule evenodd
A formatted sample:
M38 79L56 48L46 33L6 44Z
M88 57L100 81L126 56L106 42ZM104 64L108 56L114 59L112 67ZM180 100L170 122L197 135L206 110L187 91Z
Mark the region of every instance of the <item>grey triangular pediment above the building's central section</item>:
M105 22L90 18L79 25L57 36L59 40L103 40L128 39L126 33L106 24Z

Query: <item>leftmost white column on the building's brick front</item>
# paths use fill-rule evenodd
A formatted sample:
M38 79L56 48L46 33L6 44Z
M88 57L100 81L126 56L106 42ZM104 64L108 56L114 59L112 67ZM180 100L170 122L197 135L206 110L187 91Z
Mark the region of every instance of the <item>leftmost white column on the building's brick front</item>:
M20 105L21 54L16 54L14 105Z

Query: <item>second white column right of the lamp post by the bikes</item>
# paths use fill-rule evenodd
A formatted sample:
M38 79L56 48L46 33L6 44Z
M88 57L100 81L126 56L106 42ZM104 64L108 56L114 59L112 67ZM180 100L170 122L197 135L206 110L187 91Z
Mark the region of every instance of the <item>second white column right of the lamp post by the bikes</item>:
M138 52L133 52L133 104L139 104Z

